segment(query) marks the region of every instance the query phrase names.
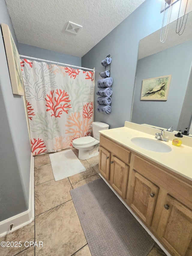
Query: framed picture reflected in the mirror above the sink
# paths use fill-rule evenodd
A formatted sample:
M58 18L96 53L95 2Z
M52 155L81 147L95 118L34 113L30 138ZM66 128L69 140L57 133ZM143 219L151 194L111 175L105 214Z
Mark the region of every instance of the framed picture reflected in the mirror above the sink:
M143 79L140 100L167 101L172 75Z

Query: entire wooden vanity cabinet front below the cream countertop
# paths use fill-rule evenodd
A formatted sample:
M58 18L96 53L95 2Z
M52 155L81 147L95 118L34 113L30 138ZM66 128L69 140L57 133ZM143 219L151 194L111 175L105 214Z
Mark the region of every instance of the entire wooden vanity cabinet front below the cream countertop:
M192 181L100 135L101 175L159 242L192 256Z

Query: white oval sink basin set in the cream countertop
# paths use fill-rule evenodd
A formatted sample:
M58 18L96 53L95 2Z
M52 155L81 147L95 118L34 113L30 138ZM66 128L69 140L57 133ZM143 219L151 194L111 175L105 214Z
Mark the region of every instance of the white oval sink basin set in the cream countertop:
M168 146L167 142L162 142L161 140L153 140L144 137L135 137L131 139L136 146L139 146L143 149L155 151L155 152L162 152L167 153L170 152L172 149Z

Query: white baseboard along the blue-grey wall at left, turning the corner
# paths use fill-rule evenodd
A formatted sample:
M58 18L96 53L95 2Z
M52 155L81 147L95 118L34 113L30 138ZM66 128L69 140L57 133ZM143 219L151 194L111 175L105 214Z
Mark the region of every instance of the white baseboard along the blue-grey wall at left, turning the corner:
M30 224L35 218L34 211L34 157L31 154L31 167L30 167L30 185L29 185L29 209L25 212L21 212L11 218L8 218L0 222L0 237L7 235L21 227ZM10 231L10 225L13 227Z

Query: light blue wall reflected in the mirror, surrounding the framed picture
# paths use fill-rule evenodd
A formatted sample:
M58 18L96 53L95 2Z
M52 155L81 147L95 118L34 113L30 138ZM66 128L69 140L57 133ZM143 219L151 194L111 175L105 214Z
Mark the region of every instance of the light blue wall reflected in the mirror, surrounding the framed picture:
M137 62L131 122L173 129L178 127L192 63L192 41L176 45ZM172 75L167 101L140 101L143 79ZM191 115L188 122L191 120Z

